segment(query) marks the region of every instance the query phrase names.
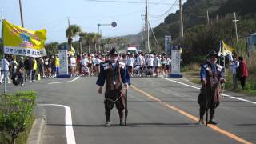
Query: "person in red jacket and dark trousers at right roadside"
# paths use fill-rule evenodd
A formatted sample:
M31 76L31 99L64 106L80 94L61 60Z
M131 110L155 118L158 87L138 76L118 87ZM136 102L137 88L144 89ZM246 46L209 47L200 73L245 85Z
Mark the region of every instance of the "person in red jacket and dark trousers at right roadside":
M242 57L238 57L239 66L238 66L238 77L241 82L242 90L245 89L246 86L246 77L249 76L248 69L246 66L246 62L243 61Z

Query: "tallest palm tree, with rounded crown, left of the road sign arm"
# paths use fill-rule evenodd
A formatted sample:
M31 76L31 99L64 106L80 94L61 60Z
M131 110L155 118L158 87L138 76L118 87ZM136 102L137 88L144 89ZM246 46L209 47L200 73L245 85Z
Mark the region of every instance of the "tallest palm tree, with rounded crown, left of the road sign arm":
M68 38L67 42L71 48L72 46L72 40L74 37L76 37L80 32L82 31L80 26L77 25L70 25L66 29L66 38Z

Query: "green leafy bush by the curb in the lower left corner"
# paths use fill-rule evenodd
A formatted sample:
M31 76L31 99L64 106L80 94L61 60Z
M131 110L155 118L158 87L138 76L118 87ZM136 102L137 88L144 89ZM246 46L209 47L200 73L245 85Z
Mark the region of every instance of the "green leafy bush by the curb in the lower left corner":
M36 104L34 91L2 95L0 104L0 132L10 144L26 130Z

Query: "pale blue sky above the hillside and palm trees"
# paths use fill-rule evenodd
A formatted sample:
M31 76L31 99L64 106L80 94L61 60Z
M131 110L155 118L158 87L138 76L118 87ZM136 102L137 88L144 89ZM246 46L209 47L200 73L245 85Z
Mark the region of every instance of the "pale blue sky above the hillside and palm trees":
M168 14L178 10L178 5L173 6L178 0L148 2L152 27L158 26ZM21 26L18 0L0 0L0 10L6 20ZM85 32L95 33L98 23L117 22L115 28L100 26L104 38L138 34L144 26L142 15L145 14L145 0L22 0L22 11L27 29L45 28L46 42L66 42L68 18L71 25L76 24Z

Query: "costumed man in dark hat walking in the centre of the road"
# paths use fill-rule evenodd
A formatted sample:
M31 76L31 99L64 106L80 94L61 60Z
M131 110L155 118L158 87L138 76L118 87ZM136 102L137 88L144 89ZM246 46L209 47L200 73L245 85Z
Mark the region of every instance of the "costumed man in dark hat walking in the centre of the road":
M105 115L106 127L110 126L110 110L113 109L114 104L118 109L120 118L120 126L124 126L124 100L126 95L123 91L123 84L128 88L130 85L130 76L126 70L125 63L118 62L118 52L113 48L109 52L109 60L100 64L100 73L96 84L99 86L98 93L102 94L102 86L106 82L105 90Z

